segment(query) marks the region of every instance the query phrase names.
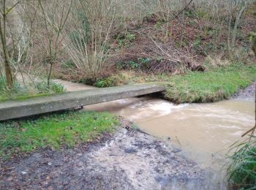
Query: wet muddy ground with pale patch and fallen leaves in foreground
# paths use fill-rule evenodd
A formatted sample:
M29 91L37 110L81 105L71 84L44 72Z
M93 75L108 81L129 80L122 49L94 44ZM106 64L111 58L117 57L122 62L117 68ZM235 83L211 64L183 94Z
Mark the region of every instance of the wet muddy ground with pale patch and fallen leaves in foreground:
M205 189L205 172L156 137L129 129L84 148L1 163L0 189Z

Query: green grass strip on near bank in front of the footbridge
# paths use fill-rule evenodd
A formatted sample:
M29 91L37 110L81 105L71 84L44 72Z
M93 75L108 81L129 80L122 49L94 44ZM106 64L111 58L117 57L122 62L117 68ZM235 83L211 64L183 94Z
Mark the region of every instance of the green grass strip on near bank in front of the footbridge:
M0 123L0 157L9 159L39 148L74 147L103 132L112 132L117 124L116 117L109 113L87 111Z

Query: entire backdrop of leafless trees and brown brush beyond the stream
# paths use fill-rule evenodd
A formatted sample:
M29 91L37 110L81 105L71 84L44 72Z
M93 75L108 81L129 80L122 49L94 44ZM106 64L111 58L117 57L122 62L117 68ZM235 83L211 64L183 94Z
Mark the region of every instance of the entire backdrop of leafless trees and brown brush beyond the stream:
M52 69L53 77L87 81L120 70L204 71L209 56L253 62L253 7L251 0L5 0L1 75L11 84L18 72L32 72L49 83Z

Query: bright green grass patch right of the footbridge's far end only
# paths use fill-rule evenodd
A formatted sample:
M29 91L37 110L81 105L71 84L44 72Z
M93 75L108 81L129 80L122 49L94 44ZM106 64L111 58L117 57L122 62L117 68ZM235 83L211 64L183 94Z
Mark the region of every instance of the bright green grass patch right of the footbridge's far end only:
M165 92L166 99L176 102L216 102L228 99L239 88L256 80L256 66L233 64L208 72L189 72L174 75Z

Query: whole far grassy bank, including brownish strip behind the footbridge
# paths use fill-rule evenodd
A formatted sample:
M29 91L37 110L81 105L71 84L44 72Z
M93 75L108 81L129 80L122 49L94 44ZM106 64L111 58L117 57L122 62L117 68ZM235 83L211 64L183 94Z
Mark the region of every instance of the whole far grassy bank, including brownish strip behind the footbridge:
M256 65L230 64L206 66L205 72L185 72L183 75L148 75L125 71L97 80L97 87L121 86L133 83L164 82L165 98L171 102L216 102L228 99L238 89L256 80Z

